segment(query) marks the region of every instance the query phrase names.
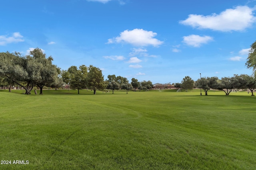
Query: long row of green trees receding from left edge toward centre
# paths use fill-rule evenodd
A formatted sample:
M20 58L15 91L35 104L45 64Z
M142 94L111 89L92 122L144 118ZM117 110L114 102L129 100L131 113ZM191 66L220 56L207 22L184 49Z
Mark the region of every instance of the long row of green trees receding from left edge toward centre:
M44 86L52 88L61 88L64 84L68 85L68 89L90 89L96 94L96 90L125 89L128 93L133 89L149 89L152 88L151 81L138 82L132 78L131 83L122 76L108 75L108 79L104 80L102 70L95 66L81 65L70 66L68 70L61 70L58 66L52 64L53 58L46 57L46 54L36 48L30 51L29 55L22 56L20 53L0 53L0 86L9 86L9 91L14 84L18 84L26 91L25 94L31 94L34 87L40 89L40 94ZM35 90L36 93L36 90Z

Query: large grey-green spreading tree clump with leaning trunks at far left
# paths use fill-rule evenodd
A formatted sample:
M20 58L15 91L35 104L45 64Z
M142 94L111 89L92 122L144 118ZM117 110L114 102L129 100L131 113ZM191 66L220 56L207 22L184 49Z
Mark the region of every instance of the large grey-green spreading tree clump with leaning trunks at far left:
M52 57L46 58L41 49L34 49L30 55L20 53L0 53L0 75L23 87L30 94L34 86L50 86L56 80L57 67L52 64Z

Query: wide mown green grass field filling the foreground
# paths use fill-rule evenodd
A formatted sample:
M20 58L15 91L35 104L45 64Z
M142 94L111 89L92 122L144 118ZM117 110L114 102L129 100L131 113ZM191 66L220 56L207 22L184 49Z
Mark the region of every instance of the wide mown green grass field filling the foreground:
M0 169L255 170L247 92L43 93L0 90Z

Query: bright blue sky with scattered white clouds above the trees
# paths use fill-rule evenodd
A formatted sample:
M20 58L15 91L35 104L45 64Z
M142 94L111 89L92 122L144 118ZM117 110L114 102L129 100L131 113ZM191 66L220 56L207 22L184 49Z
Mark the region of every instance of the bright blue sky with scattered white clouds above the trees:
M43 49L53 63L92 64L154 83L252 74L256 0L6 0L0 52Z

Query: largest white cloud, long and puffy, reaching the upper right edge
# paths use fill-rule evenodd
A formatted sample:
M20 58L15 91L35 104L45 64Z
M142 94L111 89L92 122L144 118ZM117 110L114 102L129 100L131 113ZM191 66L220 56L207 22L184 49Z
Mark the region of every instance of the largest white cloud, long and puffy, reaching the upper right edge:
M190 14L186 20L180 21L180 23L200 29L242 31L256 21L253 11L254 9L248 6L237 6L234 9L227 9L220 14L214 13L209 16Z

